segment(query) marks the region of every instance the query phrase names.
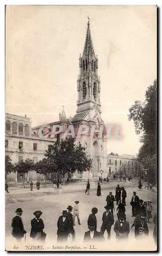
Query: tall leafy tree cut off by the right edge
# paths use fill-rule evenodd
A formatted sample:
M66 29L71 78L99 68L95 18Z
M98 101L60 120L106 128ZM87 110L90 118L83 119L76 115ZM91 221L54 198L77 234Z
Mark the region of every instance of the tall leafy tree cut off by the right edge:
M149 169L150 182L156 181L157 173L157 80L149 86L145 101L135 101L129 109L129 120L133 120L135 132L141 135L141 146L138 160L144 168Z

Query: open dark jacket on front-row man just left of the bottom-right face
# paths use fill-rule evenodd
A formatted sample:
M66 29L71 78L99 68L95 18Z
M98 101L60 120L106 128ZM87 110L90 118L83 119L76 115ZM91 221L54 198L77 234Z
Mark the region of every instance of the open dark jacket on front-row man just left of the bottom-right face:
M118 238L118 239L128 238L128 234L129 234L129 232L130 232L130 229L129 229L129 222L126 221L126 220L124 220L123 226L121 227L120 220L115 221L113 230L114 230L115 233L116 233L116 238ZM119 233L124 234L124 237L120 237L120 236L119 236Z

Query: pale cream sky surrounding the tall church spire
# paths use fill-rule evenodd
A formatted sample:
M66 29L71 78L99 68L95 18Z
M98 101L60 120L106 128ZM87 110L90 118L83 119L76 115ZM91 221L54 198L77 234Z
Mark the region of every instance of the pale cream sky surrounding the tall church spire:
M101 80L102 119L122 127L108 153L136 155L141 143L129 107L156 79L156 6L7 6L6 112L32 126L77 110L79 55L90 31Z

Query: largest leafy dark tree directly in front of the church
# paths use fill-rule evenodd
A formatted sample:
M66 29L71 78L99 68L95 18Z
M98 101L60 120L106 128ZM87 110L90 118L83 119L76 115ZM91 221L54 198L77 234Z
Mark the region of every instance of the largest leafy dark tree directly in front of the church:
M91 160L88 160L85 153L85 148L81 145L76 146L75 138L66 138L58 142L54 142L53 145L46 151L44 155L46 159L53 162L57 167L59 175L63 176L63 182L65 183L66 173L75 173L89 170L91 166Z

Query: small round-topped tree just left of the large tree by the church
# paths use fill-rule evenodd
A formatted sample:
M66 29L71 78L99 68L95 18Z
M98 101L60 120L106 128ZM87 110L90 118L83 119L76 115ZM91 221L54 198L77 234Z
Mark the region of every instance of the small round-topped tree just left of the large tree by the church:
M47 184L47 174L56 172L56 164L47 158L43 158L39 162L35 163L34 169L37 173L45 176L45 186Z

